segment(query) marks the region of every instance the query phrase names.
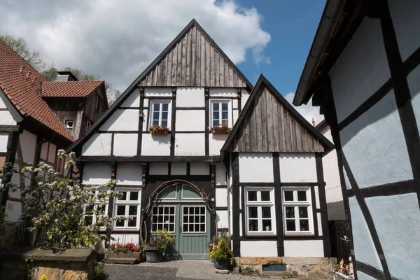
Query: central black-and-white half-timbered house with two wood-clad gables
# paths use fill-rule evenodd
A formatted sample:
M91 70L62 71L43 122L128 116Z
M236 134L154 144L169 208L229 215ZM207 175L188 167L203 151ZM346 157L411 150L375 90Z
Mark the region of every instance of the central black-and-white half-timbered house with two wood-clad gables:
M68 150L80 183L116 179L123 198L106 212L133 217L113 224L117 241L167 229L180 258L207 259L221 231L238 256L328 256L320 156L330 148L265 78L253 90L193 20Z

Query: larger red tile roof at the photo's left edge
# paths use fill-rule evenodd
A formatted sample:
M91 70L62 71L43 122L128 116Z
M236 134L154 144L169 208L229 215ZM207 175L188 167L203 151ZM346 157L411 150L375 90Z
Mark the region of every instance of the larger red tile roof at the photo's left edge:
M25 69L20 73L22 66L25 66ZM10 102L22 115L31 116L66 139L74 141L47 102L41 98L40 83L46 81L25 59L0 39L0 87Z

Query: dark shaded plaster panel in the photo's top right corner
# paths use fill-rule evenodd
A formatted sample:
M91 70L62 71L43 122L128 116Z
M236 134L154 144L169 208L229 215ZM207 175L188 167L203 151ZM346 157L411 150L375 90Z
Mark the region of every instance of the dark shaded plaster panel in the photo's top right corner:
M388 0L388 6L397 36L398 48L404 61L420 45L420 2Z

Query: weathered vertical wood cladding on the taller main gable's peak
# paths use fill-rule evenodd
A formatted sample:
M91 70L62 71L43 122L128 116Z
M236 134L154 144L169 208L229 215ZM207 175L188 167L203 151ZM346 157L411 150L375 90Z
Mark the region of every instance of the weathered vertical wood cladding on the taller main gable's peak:
M140 81L141 87L246 87L232 62L193 24ZM182 34L182 33L181 33ZM164 51L165 52L165 51ZM235 67L236 68L236 67Z

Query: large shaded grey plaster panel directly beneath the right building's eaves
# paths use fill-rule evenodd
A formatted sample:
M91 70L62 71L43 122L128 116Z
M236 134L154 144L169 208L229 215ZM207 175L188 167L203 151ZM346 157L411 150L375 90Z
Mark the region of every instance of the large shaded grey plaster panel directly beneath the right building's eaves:
M340 123L391 76L379 19L363 20L329 74Z

